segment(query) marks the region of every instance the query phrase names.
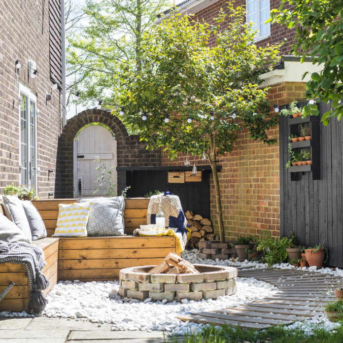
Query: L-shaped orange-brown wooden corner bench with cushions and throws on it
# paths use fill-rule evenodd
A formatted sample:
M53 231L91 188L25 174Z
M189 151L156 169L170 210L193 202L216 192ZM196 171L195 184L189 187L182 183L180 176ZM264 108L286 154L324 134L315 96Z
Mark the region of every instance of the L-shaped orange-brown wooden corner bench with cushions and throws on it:
M46 266L43 274L49 279L47 294L59 280L105 281L119 278L122 268L155 265L169 252L179 254L173 236L130 236L139 225L146 224L149 199L125 199L124 222L127 236L54 238L58 204L72 204L75 199L35 200L48 237L34 240L44 251ZM0 206L0 213L3 208ZM15 282L15 286L0 302L0 311L27 311L30 286L24 265L0 264L0 293Z

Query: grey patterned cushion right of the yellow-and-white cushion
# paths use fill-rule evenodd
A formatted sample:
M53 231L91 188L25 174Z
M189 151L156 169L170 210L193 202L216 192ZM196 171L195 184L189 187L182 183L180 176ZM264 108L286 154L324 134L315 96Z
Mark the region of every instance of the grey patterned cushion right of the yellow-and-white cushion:
M123 197L85 198L77 201L93 203L87 223L88 236L124 235L125 200Z

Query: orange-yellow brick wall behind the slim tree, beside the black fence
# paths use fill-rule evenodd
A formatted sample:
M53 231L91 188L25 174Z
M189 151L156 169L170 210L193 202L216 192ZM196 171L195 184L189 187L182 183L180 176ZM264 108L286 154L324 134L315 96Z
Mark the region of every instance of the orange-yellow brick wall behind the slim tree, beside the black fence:
M304 98L305 83L279 83L271 87L271 104L285 104ZM274 107L271 107L274 111ZM279 236L279 143L278 126L268 133L277 139L270 146L255 142L243 131L234 150L218 157L222 171L218 173L223 206L223 219L226 239L234 239L241 234L257 236L269 229ZM176 160L168 158L168 152L161 149L162 165L180 166L186 155ZM192 164L207 164L200 158L189 157ZM216 205L213 178L210 177L210 215L217 229ZM186 210L187 208L185 208Z

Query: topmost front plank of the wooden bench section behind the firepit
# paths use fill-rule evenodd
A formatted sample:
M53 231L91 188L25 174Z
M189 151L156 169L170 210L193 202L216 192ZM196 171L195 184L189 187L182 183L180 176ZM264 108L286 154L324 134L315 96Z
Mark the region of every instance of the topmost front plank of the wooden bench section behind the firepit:
M175 247L175 238L172 236L162 237L115 237L98 238L87 237L79 238L61 238L60 249L113 249L113 248L161 248Z

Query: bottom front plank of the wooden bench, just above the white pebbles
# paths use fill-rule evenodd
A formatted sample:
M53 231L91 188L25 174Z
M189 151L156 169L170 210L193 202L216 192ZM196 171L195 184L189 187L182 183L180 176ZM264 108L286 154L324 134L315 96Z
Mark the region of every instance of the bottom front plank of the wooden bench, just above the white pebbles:
M74 269L74 270L59 270L60 280L82 280L92 279L109 280L119 278L120 268L117 269ZM1 304L1 303L0 303Z

